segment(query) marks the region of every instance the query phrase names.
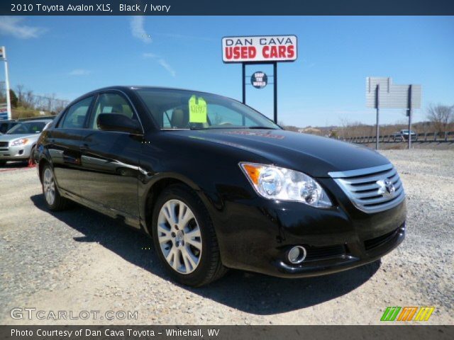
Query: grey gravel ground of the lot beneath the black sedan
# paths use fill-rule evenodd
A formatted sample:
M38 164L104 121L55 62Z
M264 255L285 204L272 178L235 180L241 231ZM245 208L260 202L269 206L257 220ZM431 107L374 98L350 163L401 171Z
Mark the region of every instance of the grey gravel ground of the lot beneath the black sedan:
M454 151L389 150L407 193L407 237L381 263L286 280L231 271L172 283L150 239L76 206L45 210L35 169L0 172L0 324L380 324L387 306L435 306L454 324ZM11 319L13 307L137 311L137 319Z

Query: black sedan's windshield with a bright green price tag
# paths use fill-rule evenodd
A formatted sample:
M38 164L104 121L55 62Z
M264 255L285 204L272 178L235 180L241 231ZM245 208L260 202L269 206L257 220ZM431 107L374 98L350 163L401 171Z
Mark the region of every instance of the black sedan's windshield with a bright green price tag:
M223 96L174 89L135 91L162 130L280 129L258 111Z

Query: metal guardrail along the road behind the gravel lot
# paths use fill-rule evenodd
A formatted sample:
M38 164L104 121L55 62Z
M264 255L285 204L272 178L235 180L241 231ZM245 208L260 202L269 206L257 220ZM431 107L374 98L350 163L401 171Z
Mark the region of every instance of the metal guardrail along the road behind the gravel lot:
M399 143L406 142L408 137L402 135L382 135L378 137L378 142L380 143ZM350 137L343 138L345 142L355 143L355 144L367 144L375 143L377 140L376 136L361 136L361 137ZM454 142L454 131L450 132L430 132L430 133L417 133L411 137L411 142Z

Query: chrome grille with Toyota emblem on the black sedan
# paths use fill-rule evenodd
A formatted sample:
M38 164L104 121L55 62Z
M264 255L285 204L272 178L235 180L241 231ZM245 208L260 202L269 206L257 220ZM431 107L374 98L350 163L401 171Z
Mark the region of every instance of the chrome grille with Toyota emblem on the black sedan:
M328 174L338 183L353 205L364 212L380 212L394 208L405 198L402 181L392 164Z

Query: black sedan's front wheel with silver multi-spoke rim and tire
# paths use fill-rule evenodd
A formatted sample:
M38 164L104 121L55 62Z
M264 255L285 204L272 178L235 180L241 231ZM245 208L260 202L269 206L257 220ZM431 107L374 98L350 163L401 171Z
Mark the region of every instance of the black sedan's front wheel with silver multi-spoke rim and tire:
M179 283L199 287L226 272L209 213L186 186L170 186L157 198L152 232L157 256Z

